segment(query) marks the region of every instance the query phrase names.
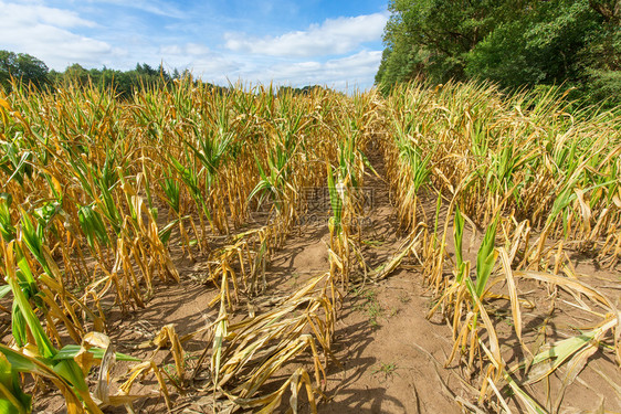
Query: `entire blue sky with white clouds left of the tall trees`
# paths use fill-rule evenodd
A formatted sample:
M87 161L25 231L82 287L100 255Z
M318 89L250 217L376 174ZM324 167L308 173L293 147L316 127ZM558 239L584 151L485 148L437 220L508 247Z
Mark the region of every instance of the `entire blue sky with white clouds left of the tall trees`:
M372 86L387 0L0 0L0 50L53 70L189 68L206 82Z

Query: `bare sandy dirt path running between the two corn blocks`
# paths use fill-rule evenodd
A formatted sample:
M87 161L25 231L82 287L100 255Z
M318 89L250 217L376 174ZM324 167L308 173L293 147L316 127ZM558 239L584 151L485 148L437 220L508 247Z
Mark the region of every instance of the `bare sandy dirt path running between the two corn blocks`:
M362 231L364 256L376 267L399 252L396 212L382 158L369 157L379 177L368 176L371 210ZM456 413L438 361L451 352L451 332L428 319L429 298L421 277L400 269L379 284L352 289L337 321L335 352L345 369L331 375L333 400L320 413Z

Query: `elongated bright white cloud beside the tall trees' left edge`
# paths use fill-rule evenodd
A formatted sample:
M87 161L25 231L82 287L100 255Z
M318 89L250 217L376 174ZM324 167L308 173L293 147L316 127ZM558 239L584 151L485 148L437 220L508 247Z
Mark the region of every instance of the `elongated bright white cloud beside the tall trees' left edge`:
M235 52L270 56L336 55L351 52L361 43L380 40L387 21L387 13L375 13L328 19L306 31L288 32L275 38L227 33L224 39L225 46Z

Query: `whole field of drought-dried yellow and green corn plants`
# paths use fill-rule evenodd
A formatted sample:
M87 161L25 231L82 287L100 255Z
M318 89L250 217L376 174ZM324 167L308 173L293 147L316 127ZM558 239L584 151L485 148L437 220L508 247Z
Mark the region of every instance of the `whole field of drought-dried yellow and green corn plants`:
M2 412L31 412L49 388L69 413L134 412L150 381L168 411L190 393L215 413L315 413L340 367L344 298L406 261L430 296L427 317L452 336L443 362L471 391L459 408L557 412L596 352L621 367L619 297L572 266L581 254L621 280L621 112L567 107L555 89L506 96L481 84L388 97L222 93L191 79L130 100L71 85L0 93ZM356 220L377 176L371 152L403 234L375 268ZM283 294L271 257L299 230L308 189L327 189L329 265ZM204 268L215 317L188 335L159 327L149 358L117 352L109 312L148 309L159 286L188 283L179 259ZM550 320L561 294L597 322L546 341L526 312ZM511 336L498 330L507 306ZM559 373L556 400L537 397L547 389L550 400Z

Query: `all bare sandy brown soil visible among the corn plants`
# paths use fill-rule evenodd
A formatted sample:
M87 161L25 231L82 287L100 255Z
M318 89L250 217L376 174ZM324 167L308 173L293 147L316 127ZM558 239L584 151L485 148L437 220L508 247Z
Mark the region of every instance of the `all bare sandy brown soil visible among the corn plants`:
M381 159L376 155L371 157L371 162L383 177ZM366 184L372 190L373 202L362 234L364 254L373 267L397 253L402 236L396 225L386 183L380 178L369 177ZM293 291L307 278L326 272L329 268L327 238L327 227L320 223L307 224L295 232L285 246L272 256L267 267L269 291ZM475 237L475 246L476 243ZM197 283L197 277L193 277L206 272L206 264L200 257L196 263L178 257L176 264L180 268L181 284L159 285L146 309L129 315L110 310L108 329L118 351L145 358L150 355L152 347L141 344L151 340L161 327L173 323L182 336L214 320L217 310L209 308L208 304L215 290L210 285ZM583 282L598 287L619 305L619 270L598 269L592 261L579 255L576 256L575 266L579 273L589 275L585 276ZM579 329L600 320L565 304L564 300L570 301L571 297L557 291L555 314L544 323L550 293L536 283L526 282L519 283L518 290L520 296L536 304L536 308L524 310L524 331L544 329L547 341L576 335ZM431 320L425 318L430 306L431 298L413 261L406 261L401 268L379 284L368 283L351 288L339 309L334 338L335 354L343 363L343 369L330 368L326 392L329 401L319 405L319 413L456 413L462 411L456 399L474 401L476 395L460 381L467 373L455 361L444 368L452 349L452 332L441 317ZM501 310L493 318L498 322L498 332L504 342L503 354L511 363L523 355L519 354L511 325L503 325L508 319L507 315L511 316L508 302L501 304L498 308ZM183 344L190 369L204 348L204 340L206 336L201 333ZM535 340L535 333L525 335L525 342ZM172 363L167 352L162 352L157 361L162 365ZM119 365L116 373L123 373L123 368ZM579 379L568 388L560 412L593 412L600 407L602 400L606 410L621 411L621 400L614 391L614 386L619 389L621 384L621 374L610 352L596 352ZM549 384L552 396L558 384L559 379L552 378ZM200 376L194 391L185 395L172 393L177 402L176 412L208 412L206 405L201 404L206 395L196 391L199 388ZM135 404L136 412L165 411L162 399L155 389L154 381L145 381L136 386L134 391L137 393L154 392L152 397L139 400ZM546 384L539 383L530 392L541 402L545 401L545 390ZM524 410L511 395L508 399L515 404L516 412ZM36 403L39 412L61 413L64 410L53 392Z

